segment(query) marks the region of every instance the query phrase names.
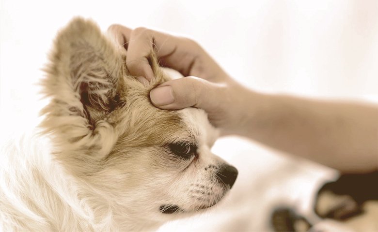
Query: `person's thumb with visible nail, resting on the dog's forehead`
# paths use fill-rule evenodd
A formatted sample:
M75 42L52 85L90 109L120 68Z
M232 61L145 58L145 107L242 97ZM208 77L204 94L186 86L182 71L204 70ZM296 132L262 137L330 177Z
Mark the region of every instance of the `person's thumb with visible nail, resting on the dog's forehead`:
M150 98L161 109L177 110L194 106L211 111L219 104L221 89L220 84L188 76L155 87L150 92Z

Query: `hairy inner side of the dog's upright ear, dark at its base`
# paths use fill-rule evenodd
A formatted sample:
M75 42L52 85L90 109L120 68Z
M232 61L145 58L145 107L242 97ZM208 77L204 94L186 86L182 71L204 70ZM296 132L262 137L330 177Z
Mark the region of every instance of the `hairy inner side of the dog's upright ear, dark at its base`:
M68 61L69 82L79 95L85 117L94 125L120 100L123 58L90 22L77 20L58 38L61 61Z

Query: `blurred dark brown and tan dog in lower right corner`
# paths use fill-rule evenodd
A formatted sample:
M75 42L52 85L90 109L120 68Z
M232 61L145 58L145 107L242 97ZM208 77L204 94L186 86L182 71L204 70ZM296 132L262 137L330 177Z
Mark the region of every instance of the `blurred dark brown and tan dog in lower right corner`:
M272 227L274 231L378 231L377 183L377 171L341 174L318 189L315 217L306 217L294 207L277 207Z

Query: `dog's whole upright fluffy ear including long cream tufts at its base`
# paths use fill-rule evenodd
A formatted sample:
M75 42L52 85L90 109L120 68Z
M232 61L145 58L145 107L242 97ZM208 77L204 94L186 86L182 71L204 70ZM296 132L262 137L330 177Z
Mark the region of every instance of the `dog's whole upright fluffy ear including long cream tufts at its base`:
M43 82L51 102L42 111L42 127L55 134L57 142L77 149L114 142L112 127L103 119L122 104L126 71L117 49L90 20L75 18L58 33ZM99 141L104 137L105 144Z

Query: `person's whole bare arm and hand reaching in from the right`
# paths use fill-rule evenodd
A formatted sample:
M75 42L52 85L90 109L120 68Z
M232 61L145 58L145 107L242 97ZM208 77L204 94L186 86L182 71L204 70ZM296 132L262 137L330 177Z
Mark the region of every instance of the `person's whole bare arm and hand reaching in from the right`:
M153 78L151 51L160 65L185 76L151 90L155 106L202 108L222 135L244 136L344 173L378 170L377 105L259 93L233 80L193 40L121 25L109 31L125 47L126 66L140 81Z

